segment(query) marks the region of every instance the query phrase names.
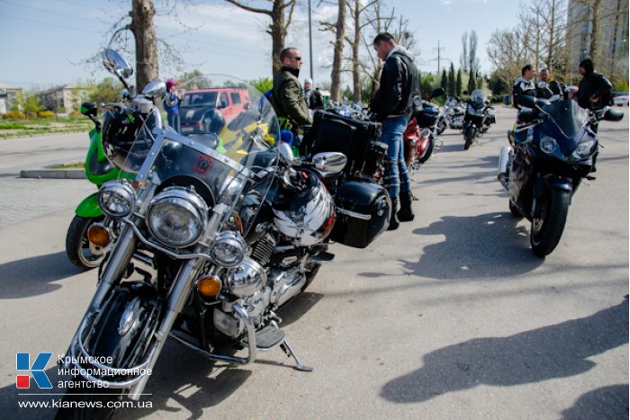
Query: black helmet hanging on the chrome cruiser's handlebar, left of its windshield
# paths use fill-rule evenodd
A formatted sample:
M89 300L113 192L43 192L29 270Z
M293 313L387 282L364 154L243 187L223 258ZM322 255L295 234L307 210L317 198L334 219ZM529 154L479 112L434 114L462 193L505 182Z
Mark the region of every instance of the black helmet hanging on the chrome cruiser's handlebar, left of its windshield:
M112 165L125 172L138 172L151 147L150 142L143 141L137 142L131 150L138 136L144 132L141 128L142 122L133 115L112 110L103 113L103 151ZM138 147L140 143L143 145L141 150Z

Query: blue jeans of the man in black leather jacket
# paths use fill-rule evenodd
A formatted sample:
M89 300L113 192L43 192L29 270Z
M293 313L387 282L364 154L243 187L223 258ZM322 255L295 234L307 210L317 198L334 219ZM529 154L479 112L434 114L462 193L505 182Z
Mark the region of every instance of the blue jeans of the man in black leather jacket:
M387 144L388 173L384 176L384 187L390 197L396 198L401 192L410 192L411 179L405 164L405 149L402 145L402 133L407 129L407 115L387 118L383 121L381 141Z

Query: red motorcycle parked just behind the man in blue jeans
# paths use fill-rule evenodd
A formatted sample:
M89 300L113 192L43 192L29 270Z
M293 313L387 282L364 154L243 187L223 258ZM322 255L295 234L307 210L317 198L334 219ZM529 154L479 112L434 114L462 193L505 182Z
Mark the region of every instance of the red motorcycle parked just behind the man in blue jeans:
M440 111L430 100L443 94L444 89L438 87L428 96L427 101L422 101L402 134L405 163L410 174L417 171L433 154L436 145L436 123Z

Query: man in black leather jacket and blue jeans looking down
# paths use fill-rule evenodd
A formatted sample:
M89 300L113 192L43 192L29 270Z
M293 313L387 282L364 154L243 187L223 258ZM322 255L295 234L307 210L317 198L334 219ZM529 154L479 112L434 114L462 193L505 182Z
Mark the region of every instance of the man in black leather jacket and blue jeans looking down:
M405 165L402 133L407 128L413 99L420 95L418 70L409 53L399 47L392 34L381 32L374 38L374 50L385 64L380 88L370 102L376 121L383 123L381 141L388 145L389 174L384 177L392 197L390 230L401 221L413 220L410 174ZM399 204L400 196L400 204ZM400 207L400 211L399 211Z

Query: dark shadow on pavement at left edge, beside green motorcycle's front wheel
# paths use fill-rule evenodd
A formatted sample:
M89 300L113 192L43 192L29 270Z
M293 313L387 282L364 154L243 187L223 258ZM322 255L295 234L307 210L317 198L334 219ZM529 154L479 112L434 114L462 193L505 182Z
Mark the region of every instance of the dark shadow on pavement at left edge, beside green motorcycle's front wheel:
M0 264L0 299L21 299L58 290L53 281L81 273L65 252ZM95 280L94 280L95 281Z

